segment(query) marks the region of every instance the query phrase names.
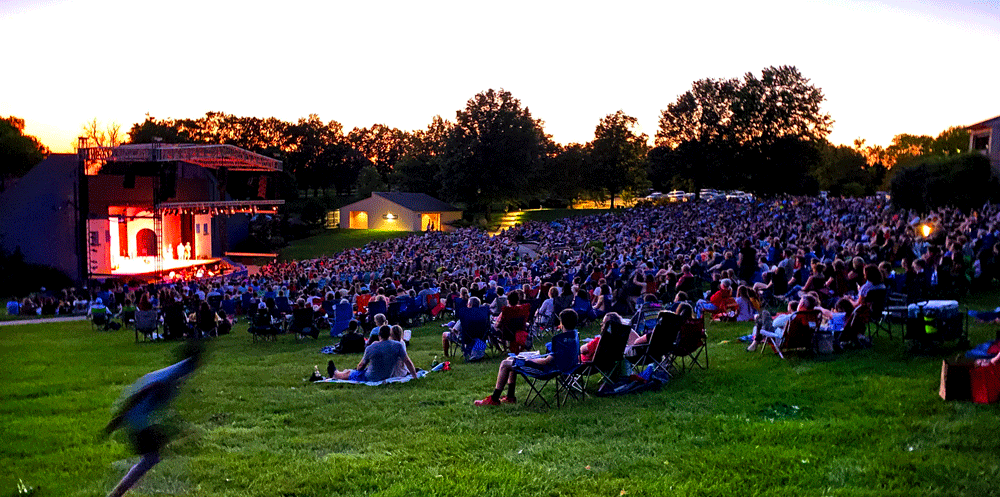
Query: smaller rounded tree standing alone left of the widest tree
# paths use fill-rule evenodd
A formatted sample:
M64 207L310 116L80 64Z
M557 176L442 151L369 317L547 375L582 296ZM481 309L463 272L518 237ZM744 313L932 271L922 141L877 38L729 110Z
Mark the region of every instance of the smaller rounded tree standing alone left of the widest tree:
M594 186L603 188L615 207L615 196L634 194L647 185L646 152L649 137L636 131L639 121L622 111L608 114L594 130L591 157Z

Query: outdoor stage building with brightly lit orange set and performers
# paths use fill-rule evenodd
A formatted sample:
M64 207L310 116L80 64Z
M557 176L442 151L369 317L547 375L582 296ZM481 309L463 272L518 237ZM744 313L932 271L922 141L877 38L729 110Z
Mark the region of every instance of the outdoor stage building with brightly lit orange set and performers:
M0 245L76 281L215 275L249 234L281 162L230 145L129 144L52 154L0 195ZM249 172L256 200L227 198L232 172Z

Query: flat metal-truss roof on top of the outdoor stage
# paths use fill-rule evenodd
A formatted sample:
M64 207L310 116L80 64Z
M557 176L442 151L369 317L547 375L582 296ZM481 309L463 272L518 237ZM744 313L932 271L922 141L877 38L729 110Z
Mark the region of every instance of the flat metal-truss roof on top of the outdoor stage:
M88 162L190 162L201 167L231 171L281 171L281 161L233 145L138 143L117 147L82 148Z

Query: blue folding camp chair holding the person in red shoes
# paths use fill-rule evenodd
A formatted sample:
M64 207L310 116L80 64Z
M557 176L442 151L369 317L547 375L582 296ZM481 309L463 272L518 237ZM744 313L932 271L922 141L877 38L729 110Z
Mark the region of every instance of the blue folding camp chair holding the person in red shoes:
M524 405L529 406L537 399L542 399L546 407L551 407L542 392L553 380L555 381L556 407L568 400L570 395L576 396L573 390L573 373L580 365L580 335L573 331L564 331L552 337L552 362L546 369L536 369L531 363L513 367L512 371L524 378L531 389L525 397Z

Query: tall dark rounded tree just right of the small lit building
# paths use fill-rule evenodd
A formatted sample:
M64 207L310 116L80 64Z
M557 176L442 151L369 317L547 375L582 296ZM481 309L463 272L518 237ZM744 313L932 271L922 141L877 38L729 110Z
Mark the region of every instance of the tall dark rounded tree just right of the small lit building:
M487 217L493 204L524 200L548 141L542 122L510 92L479 93L456 113L445 140L437 176L441 193Z

